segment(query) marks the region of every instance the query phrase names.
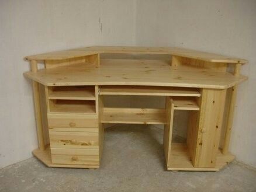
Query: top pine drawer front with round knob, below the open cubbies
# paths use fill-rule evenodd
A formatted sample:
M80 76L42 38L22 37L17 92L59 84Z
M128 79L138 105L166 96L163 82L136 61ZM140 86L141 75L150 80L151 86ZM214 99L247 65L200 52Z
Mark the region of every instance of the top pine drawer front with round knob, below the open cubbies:
M48 113L47 116L48 116L49 128L51 127L96 128L98 127L97 115Z

